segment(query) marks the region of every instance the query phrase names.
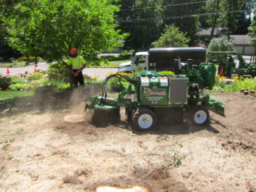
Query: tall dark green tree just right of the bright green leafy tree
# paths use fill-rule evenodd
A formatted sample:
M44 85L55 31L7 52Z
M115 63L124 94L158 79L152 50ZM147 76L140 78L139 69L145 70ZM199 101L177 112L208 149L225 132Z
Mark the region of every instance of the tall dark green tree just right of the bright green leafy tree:
M163 21L162 0L122 0L117 18L122 31L129 33L124 48L146 50L159 38ZM152 18L152 20L147 20Z

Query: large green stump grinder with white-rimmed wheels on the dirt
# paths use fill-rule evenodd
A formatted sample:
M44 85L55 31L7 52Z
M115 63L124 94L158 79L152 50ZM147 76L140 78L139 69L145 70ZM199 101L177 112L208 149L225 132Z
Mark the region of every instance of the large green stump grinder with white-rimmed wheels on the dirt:
M92 124L105 127L120 120L120 107L125 107L127 118L134 128L146 131L156 124L180 124L186 117L189 124L201 126L209 121L211 110L225 117L225 103L210 98L207 89L215 84L215 65L192 65L176 60L176 75L156 71L141 71L135 78L128 75L108 76L102 85L102 95L88 97L85 110L93 111ZM107 97L106 83L111 78L129 82L117 98Z

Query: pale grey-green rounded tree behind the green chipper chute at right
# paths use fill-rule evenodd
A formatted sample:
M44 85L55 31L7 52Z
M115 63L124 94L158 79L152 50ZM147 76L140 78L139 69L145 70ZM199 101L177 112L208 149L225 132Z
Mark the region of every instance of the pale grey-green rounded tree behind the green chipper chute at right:
M212 38L208 46L208 51L234 51L234 44L228 39L228 36L220 36ZM226 55L209 54L207 53L207 60L225 60Z

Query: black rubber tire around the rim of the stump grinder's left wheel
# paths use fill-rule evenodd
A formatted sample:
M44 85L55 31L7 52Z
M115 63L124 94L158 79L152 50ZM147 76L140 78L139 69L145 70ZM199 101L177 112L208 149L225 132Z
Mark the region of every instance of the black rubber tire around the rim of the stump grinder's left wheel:
M143 114L149 115L148 117L151 117L152 122L149 122L149 126L141 127L139 125L139 117L141 117ZM156 122L156 114L147 107L138 107L137 110L135 110L132 114L132 124L134 124L134 128L139 131L149 131L153 129L156 125Z

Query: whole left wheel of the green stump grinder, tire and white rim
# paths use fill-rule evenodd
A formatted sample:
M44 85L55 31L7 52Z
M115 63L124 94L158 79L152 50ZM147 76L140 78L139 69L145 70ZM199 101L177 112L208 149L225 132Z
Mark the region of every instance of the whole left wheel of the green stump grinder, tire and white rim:
M140 131L147 131L156 125L156 114L147 107L139 107L132 115L134 127Z

